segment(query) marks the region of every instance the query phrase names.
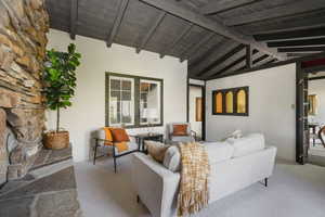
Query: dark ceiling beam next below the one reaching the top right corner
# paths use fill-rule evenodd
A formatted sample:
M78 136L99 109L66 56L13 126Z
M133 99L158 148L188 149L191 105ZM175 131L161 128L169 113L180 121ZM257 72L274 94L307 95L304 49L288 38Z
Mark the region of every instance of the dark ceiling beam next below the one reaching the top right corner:
M325 37L325 27L255 35L257 41Z

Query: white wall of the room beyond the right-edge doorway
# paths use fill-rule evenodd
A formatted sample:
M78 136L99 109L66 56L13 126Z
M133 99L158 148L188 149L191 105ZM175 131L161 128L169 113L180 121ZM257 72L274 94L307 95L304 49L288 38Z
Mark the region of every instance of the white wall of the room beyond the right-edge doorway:
M318 100L317 114L312 116L313 122L325 124L325 79L310 80L308 94L316 94Z

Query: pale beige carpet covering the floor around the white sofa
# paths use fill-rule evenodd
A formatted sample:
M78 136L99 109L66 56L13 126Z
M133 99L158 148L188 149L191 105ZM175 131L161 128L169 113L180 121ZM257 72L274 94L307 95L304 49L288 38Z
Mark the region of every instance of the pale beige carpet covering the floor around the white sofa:
M130 157L102 158L76 164L78 194L84 217L146 217L148 210L136 203L130 175ZM209 205L196 217L324 217L325 167L278 163L269 188L261 183Z

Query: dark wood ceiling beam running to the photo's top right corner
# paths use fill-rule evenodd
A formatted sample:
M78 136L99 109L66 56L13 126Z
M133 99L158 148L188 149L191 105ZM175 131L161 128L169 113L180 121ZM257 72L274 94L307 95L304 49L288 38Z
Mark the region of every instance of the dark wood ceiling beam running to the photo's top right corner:
M255 13L243 14L225 20L226 26L236 26L247 23L260 22L276 17L289 16L292 14L306 13L309 11L320 10L325 8L324 0L301 0L291 4L284 4L268 10L258 11Z

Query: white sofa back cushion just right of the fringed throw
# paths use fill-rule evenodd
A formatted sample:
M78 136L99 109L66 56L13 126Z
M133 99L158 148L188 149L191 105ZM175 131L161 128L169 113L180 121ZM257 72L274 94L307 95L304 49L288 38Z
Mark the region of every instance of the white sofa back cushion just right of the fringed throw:
M208 153L210 165L230 159L234 153L234 146L227 142L204 142Z

